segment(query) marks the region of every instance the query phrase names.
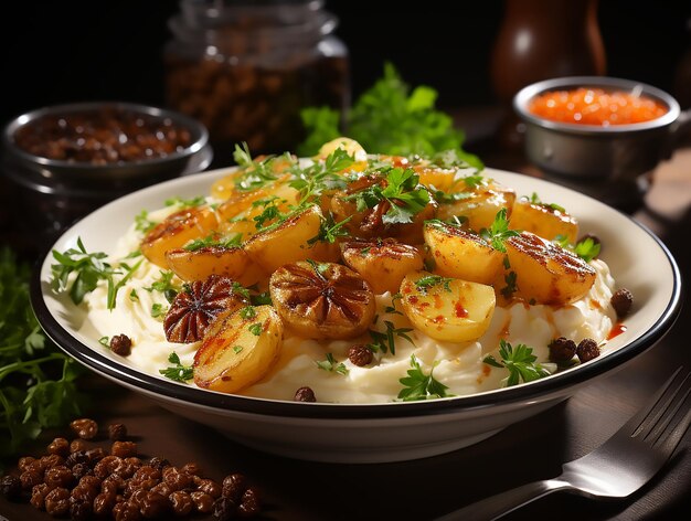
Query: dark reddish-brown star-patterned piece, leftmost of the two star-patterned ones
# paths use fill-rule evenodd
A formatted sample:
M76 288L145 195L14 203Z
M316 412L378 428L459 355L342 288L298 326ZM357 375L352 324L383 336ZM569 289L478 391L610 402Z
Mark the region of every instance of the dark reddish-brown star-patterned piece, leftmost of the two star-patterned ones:
M166 315L166 339L169 342L196 342L220 315L248 305L242 288L230 277L211 275L205 280L194 280L176 296Z

